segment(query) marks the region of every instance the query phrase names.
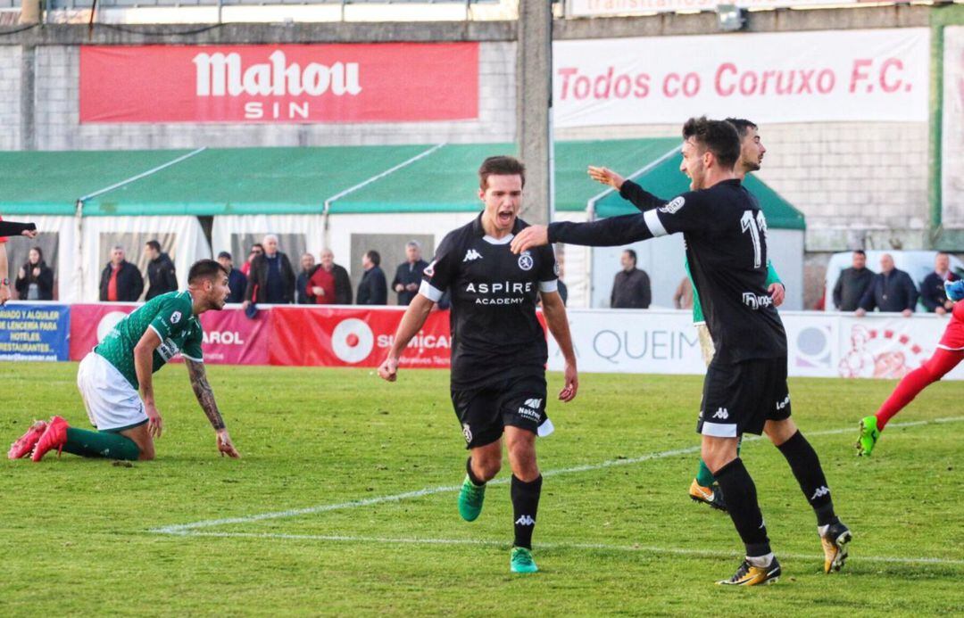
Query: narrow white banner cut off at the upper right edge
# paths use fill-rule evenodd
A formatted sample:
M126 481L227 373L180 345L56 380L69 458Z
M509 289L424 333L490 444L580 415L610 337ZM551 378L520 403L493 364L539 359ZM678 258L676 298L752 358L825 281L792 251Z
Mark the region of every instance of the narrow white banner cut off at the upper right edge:
M944 29L941 130L942 222L964 227L964 26Z

